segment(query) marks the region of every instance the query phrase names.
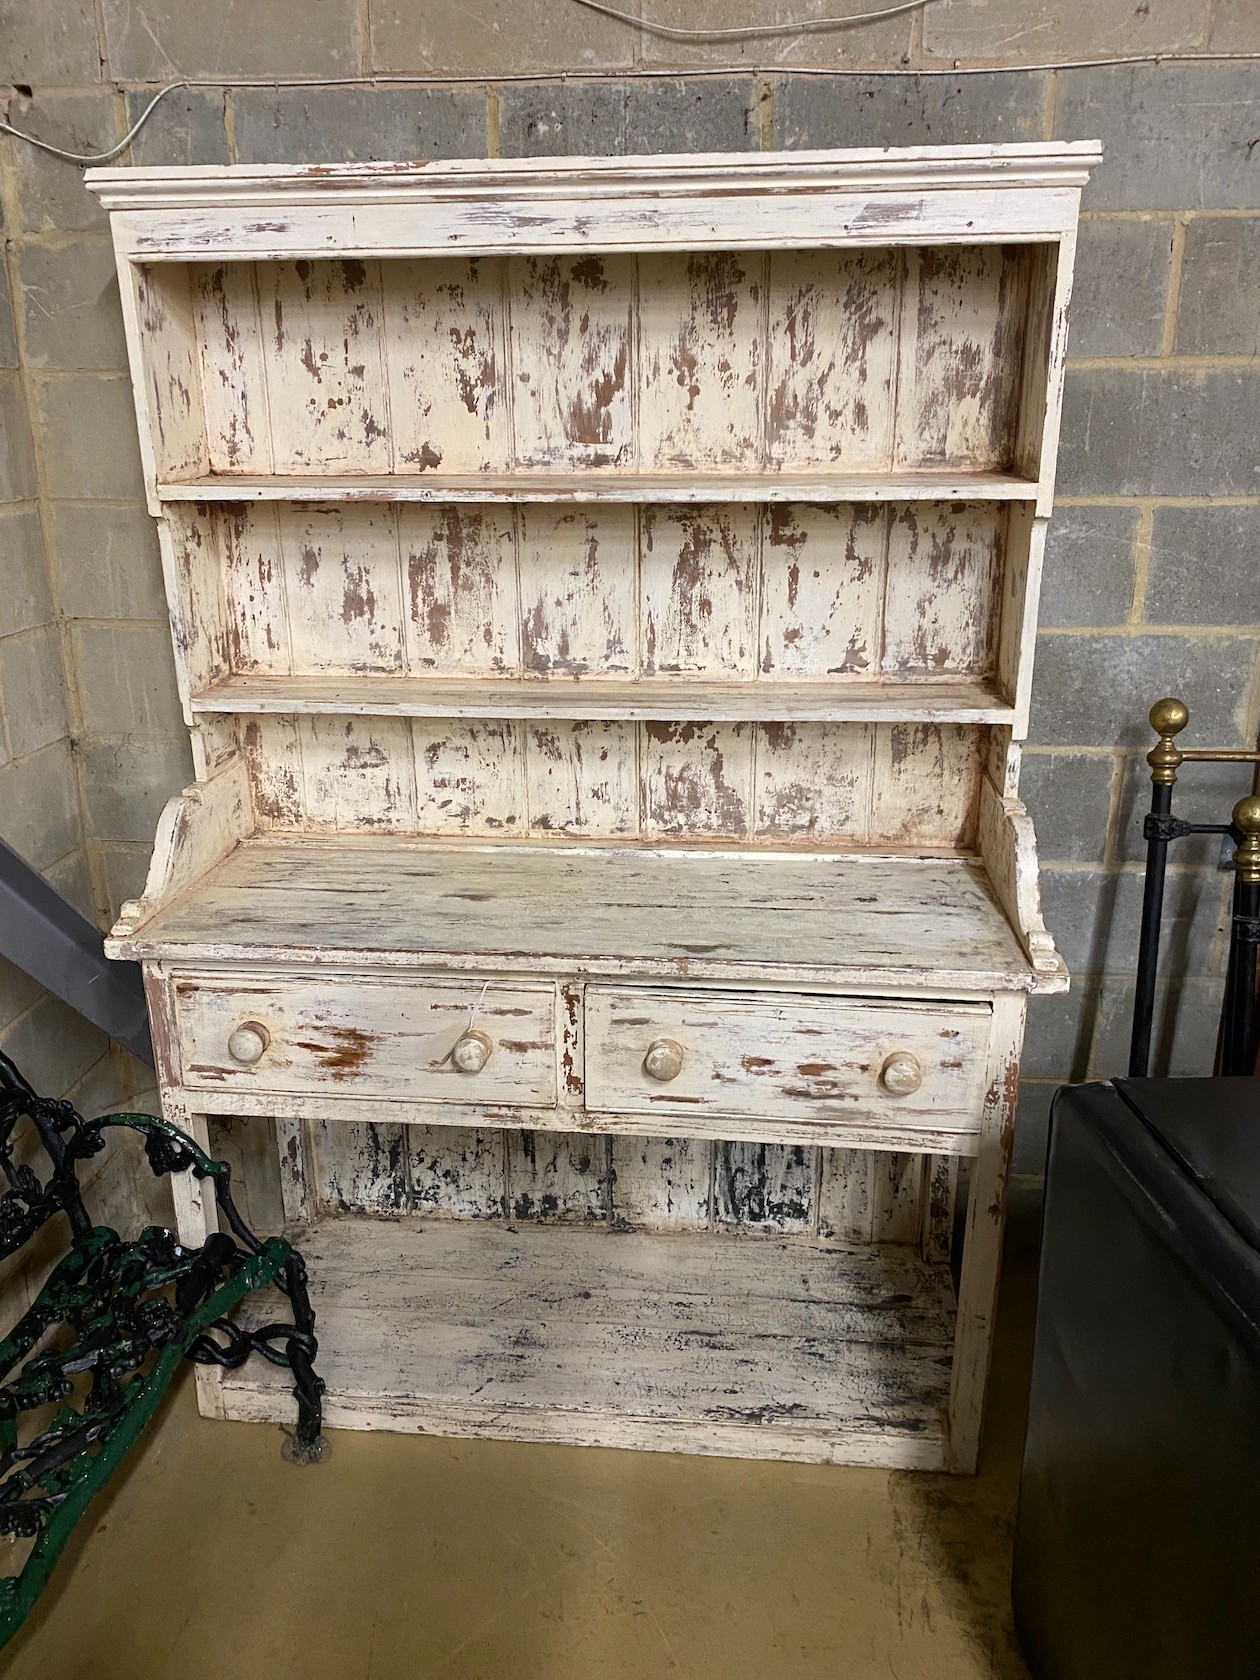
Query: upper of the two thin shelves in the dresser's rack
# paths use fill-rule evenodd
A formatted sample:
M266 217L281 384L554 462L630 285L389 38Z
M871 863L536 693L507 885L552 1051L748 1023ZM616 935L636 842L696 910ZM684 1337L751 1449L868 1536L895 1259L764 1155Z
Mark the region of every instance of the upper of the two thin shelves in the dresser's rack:
M161 502L1035 502L1013 472L514 472L186 479Z

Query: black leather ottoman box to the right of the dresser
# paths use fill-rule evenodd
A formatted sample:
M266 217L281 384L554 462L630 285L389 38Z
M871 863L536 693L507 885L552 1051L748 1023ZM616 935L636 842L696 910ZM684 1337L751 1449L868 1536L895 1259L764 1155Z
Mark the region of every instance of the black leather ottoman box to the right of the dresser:
M1260 1675L1260 1080L1055 1097L1015 1616L1038 1680Z

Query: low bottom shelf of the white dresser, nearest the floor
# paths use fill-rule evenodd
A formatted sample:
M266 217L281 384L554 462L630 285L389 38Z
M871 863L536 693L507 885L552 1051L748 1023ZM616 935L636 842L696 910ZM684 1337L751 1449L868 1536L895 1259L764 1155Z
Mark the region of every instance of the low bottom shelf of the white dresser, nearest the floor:
M334 1428L946 1465L953 1284L907 1245L487 1220L294 1236ZM239 1317L277 1310L252 1295ZM207 1388L220 1416L292 1420L292 1378L262 1359Z

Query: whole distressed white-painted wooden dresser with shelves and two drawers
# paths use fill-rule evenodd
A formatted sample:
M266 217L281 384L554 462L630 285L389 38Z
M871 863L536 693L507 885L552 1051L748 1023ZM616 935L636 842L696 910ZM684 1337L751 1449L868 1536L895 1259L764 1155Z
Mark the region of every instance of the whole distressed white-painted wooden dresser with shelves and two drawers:
M109 949L331 1423L974 1465L1097 156L89 175L197 766Z

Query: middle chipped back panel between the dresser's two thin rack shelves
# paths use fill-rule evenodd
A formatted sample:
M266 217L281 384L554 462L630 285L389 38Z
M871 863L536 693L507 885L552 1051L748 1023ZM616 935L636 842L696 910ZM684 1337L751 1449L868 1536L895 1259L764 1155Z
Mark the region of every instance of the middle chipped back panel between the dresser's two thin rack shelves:
M1008 519L996 502L255 502L193 517L186 541L200 576L222 554L223 674L842 684L991 675Z

